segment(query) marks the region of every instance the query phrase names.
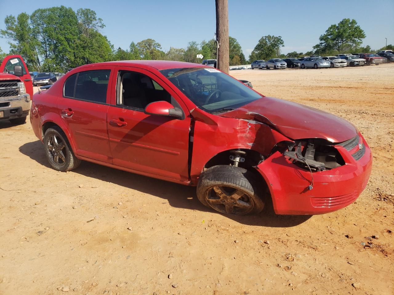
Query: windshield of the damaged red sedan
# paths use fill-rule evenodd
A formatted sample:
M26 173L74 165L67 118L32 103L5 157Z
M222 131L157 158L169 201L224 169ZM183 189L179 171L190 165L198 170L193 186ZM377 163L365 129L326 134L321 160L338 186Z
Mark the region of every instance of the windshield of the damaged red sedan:
M262 98L215 68L173 68L160 72L197 107L209 113L229 111Z

